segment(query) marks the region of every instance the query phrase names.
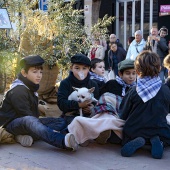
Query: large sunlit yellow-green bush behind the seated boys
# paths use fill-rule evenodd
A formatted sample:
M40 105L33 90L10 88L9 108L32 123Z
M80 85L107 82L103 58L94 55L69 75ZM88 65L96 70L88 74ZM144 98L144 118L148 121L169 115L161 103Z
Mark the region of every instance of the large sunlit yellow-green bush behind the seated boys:
M46 63L53 66L58 62L62 69L67 69L70 57L75 53L87 53L91 42L85 33L83 10L73 8L75 1L64 3L64 0L50 0L48 12L32 10L38 3L37 0L8 0L8 11L12 21L19 20L18 29L21 40L27 37L27 44L20 44L22 56L28 54L41 55ZM14 15L22 13L23 17ZM107 37L107 26L112 23L114 17L105 16L92 28L92 33L98 32L100 36ZM22 23L22 24L21 24ZM25 32L27 34L25 35ZM38 36L38 37L37 37Z

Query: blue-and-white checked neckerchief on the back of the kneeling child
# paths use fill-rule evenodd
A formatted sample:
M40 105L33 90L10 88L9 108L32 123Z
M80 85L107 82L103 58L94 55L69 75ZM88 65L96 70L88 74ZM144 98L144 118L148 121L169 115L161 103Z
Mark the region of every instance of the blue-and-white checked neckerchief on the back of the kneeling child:
M147 102L156 96L162 86L160 77L149 77L137 78L136 91L143 102Z

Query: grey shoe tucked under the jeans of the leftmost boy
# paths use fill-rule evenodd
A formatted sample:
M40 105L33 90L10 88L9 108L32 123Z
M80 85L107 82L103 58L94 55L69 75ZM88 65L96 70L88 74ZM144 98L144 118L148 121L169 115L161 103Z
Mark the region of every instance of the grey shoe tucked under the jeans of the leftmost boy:
M17 135L15 136L15 140L24 147L29 147L33 143L33 138L29 135Z

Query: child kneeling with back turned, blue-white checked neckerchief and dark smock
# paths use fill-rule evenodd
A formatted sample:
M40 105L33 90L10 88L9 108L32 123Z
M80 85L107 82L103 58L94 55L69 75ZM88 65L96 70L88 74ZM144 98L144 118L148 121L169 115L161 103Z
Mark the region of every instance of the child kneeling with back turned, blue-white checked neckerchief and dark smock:
M161 159L163 146L170 144L170 126L166 120L170 90L158 76L161 68L156 53L139 54L135 69L137 86L126 93L119 110L120 118L126 121L121 155L130 157L145 143L150 143L152 157Z

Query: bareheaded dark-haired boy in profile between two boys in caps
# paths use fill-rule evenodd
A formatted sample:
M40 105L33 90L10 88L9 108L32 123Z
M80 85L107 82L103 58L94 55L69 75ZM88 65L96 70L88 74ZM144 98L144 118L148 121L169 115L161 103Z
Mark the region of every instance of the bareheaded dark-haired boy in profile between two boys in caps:
M90 79L94 80L98 84L99 91L107 81L107 79L104 76L105 76L104 61L98 58L92 59L90 67Z

